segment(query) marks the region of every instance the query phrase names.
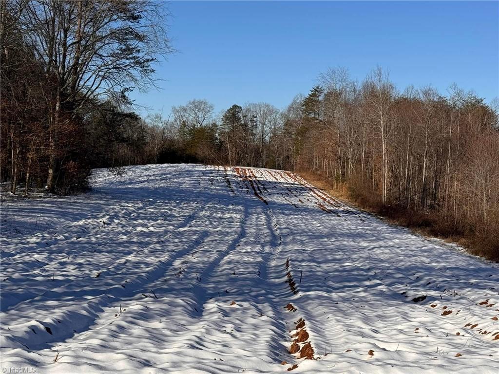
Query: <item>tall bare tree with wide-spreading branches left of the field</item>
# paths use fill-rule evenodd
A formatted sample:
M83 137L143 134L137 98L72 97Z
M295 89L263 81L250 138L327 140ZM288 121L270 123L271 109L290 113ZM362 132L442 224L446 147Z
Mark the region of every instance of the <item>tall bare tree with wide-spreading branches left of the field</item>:
M167 12L156 1L30 1L21 12L25 42L55 80L47 188L54 186L60 132L88 100L155 85L154 63L172 52Z

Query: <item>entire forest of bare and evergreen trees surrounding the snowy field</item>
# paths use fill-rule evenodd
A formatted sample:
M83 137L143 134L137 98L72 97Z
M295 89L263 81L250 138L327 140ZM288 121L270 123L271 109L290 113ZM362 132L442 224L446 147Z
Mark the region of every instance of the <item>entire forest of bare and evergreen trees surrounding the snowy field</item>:
M160 2L0 6L0 179L11 194L78 193L92 169L126 165L288 170L499 260L497 101L457 85L400 89L381 67L360 81L336 67L283 109L216 113L193 99L142 118L129 93L154 89L154 64L174 52Z

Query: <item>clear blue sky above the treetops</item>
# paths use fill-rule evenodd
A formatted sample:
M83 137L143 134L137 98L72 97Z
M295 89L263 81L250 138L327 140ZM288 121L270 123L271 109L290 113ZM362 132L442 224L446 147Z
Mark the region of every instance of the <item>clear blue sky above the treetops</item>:
M498 1L173 1L178 53L157 67L160 91L131 97L150 111L207 99L216 111L283 108L317 75L343 66L361 81L376 65L399 89L455 82L499 96ZM144 114L145 109L141 112Z

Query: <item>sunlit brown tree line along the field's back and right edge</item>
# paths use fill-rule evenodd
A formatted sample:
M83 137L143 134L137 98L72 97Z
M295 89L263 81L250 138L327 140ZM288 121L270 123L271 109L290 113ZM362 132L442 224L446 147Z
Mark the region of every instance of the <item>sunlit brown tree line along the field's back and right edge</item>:
M279 110L206 100L146 119L144 162L199 162L321 176L362 207L499 260L499 116L457 85L398 91L382 68L318 77ZM146 156L149 155L149 156Z

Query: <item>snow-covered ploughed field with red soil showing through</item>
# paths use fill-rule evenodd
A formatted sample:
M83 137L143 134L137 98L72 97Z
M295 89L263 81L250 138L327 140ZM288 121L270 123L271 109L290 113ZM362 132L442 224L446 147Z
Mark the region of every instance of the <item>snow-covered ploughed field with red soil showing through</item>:
M92 185L1 207L3 373L498 373L496 264L287 172Z

